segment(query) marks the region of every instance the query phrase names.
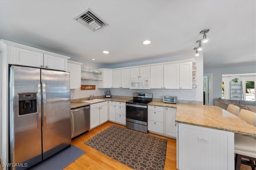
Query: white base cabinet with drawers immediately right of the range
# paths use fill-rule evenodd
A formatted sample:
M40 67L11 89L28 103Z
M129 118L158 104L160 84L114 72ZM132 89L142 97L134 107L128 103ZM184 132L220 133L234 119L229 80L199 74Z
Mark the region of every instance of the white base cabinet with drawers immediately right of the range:
M160 106L148 106L148 130L156 133L164 133L164 108Z

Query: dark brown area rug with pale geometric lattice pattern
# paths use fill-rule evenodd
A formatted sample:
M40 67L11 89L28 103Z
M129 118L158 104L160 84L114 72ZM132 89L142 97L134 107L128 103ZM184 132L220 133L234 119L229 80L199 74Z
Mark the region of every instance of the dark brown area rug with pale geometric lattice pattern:
M112 125L84 143L135 170L163 170L167 140Z

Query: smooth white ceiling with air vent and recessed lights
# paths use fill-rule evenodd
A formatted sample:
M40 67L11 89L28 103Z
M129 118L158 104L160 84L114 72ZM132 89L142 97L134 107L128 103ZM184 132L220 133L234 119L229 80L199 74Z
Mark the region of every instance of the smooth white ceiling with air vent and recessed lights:
M73 20L86 8L108 26ZM1 39L104 65L194 58L203 29L204 68L256 65L255 0L0 0Z

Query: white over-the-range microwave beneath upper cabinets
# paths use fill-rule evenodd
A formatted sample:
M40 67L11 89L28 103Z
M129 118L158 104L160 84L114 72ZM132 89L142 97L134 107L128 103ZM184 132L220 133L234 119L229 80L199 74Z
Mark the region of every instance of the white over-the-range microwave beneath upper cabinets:
M130 89L150 89L150 78L130 78Z

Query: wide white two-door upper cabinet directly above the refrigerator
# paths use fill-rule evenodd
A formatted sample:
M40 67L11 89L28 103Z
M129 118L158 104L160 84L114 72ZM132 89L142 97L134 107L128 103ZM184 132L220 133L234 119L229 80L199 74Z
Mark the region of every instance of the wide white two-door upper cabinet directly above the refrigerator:
M38 53L19 47L14 47L14 64L47 68L52 70L67 70L67 59L53 55Z

